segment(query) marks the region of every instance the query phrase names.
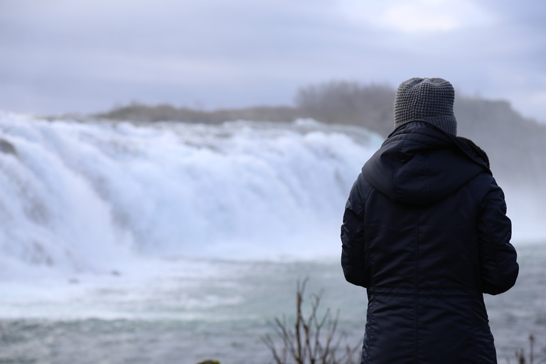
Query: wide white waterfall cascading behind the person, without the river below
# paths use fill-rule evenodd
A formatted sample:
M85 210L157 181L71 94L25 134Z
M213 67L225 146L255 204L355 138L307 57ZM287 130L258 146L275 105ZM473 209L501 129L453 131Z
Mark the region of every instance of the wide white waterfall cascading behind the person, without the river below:
M0 139L0 279L103 272L134 255L337 253L348 190L381 143L311 120L137 127L17 114L0 114Z

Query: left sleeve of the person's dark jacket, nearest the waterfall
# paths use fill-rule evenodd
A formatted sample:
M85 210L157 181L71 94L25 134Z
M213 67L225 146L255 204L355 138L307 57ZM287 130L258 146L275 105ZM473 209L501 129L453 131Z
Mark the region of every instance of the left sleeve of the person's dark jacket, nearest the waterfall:
M364 205L371 187L365 182L362 174L350 190L345 205L343 225L341 225L341 267L347 282L357 286L369 287L369 277L366 274L367 259L365 257L364 236Z

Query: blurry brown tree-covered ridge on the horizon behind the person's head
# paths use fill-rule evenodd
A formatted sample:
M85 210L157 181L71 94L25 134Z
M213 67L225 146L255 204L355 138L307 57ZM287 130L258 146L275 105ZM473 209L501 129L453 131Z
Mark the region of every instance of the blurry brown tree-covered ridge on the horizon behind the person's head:
M205 111L171 105L132 103L95 115L133 122L179 121L220 123L246 119L290 122L313 118L319 122L353 124L387 137L394 125L395 89L386 85L333 81L302 87L294 106L261 106ZM515 185L542 188L546 182L546 126L523 118L505 101L456 95L458 134L476 141L491 159L493 171Z

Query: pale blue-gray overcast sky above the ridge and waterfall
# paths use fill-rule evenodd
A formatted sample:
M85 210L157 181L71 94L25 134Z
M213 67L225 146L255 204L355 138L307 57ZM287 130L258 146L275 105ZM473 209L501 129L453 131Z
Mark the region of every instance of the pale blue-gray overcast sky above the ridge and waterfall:
M0 109L289 104L444 77L546 122L544 0L0 0Z

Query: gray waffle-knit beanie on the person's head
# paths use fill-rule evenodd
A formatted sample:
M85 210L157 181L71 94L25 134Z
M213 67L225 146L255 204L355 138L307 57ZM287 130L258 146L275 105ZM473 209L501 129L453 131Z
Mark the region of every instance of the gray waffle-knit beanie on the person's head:
M453 86L443 78L414 77L402 82L396 91L395 129L408 122L421 121L456 135L454 99Z

